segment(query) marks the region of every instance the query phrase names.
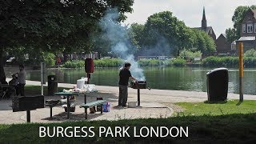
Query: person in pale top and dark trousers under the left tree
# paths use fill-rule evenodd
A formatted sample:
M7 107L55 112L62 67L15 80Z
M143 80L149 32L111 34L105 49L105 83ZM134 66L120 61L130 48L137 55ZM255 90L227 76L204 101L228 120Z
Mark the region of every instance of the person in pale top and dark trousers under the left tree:
M21 94L21 96L25 96L24 94L24 86L26 85L26 71L24 69L24 65L19 65L18 72L18 90L17 95Z

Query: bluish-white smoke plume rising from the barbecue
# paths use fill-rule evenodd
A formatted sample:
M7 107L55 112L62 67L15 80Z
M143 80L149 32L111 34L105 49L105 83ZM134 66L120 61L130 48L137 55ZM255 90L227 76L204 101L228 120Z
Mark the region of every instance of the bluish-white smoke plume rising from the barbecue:
M130 72L134 78L138 80L145 80L143 70L139 67L138 62L134 59L132 51L134 46L127 37L126 27L121 26L116 20L119 14L117 9L109 9L106 11L106 16L102 18L102 30L110 39L111 50L118 55L118 57L124 59L126 62L130 62Z

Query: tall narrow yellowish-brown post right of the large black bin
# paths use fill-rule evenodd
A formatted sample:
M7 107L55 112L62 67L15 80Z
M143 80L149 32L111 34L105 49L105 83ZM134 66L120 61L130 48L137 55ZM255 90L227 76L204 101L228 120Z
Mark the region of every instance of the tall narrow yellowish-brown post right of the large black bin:
M239 101L243 101L243 43L239 42Z

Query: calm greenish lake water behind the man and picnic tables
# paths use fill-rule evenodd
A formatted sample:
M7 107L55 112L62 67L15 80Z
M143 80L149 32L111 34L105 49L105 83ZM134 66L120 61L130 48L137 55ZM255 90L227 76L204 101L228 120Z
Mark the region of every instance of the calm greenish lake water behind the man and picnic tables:
M206 91L206 73L211 69L200 67L144 67L147 86L163 90ZM84 69L52 69L47 75L56 74L58 82L76 83L86 77ZM28 70L27 79L40 81L39 70ZM238 70L229 69L229 92L239 93ZM91 74L90 83L102 86L118 86L118 68L97 68ZM256 94L256 70L244 70L244 94Z

